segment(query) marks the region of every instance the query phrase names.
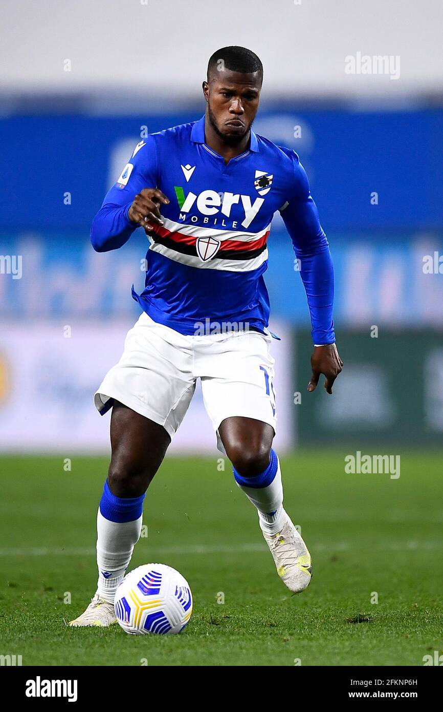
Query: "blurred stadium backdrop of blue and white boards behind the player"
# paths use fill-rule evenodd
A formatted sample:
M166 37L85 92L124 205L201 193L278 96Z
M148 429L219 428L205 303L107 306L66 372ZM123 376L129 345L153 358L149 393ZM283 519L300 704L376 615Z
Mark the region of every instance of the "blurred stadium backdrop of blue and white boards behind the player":
M332 399L308 399L309 313L276 216L267 286L282 337L277 446L441 443L440 2L429 1L426 15L412 0L278 0L272 10L265 0L227 0L221 13L198 0L4 9L2 451L107 452L109 416L98 417L92 394L139 314L130 288L142 286L146 239L137 232L119 251L96 254L90 223L141 132L203 114L208 56L231 43L262 58L255 131L299 153L336 273L346 369ZM346 57L358 53L398 58L398 76L346 73ZM197 396L174 451L215 453L202 408Z

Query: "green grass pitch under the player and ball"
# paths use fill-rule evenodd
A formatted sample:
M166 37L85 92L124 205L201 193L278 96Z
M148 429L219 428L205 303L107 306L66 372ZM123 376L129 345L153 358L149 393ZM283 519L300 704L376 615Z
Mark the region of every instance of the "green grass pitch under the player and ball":
M442 453L406 451L397 480L345 474L346 454L282 459L285 507L314 564L300 595L277 577L228 461L219 471L216 454L167 458L131 567L176 567L194 612L181 635L140 637L64 622L95 592L107 459L73 456L65 471L63 456L1 457L0 654L23 665L421 666L443 651Z

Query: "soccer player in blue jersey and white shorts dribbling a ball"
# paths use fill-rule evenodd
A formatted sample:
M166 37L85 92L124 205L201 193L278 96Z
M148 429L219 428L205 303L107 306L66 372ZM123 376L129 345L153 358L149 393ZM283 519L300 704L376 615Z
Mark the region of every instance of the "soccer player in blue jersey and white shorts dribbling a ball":
M252 132L263 68L224 47L208 63L200 120L148 135L134 148L91 229L97 252L149 237L142 307L124 352L95 393L112 408L112 458L97 513L97 592L73 626L115 622L114 595L142 528L146 489L186 414L196 379L218 448L257 508L277 572L293 592L311 557L283 508L269 298L263 275L272 216L282 214L299 261L314 352L308 391L332 392L343 363L332 320L328 241L299 157Z

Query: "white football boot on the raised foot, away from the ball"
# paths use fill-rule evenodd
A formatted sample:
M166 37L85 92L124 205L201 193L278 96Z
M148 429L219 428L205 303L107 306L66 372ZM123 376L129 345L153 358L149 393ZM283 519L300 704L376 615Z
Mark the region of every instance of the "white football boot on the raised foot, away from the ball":
M286 512L284 515L281 531L268 534L262 530L262 534L274 557L279 577L289 591L299 593L311 580L311 555Z

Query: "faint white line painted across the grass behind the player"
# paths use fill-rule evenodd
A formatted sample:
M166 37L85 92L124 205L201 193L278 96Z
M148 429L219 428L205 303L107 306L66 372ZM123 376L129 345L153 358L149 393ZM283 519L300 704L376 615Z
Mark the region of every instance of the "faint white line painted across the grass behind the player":
M267 551L265 544L239 544L239 545L214 545L208 546L204 544L189 545L189 546L149 546L149 539L146 542L148 546L144 548L149 548L152 553L159 555L185 555L185 554L230 554L230 553L261 553ZM362 548L367 548L365 544L361 544ZM328 543L316 543L311 545L311 553L316 551L329 551L334 553L336 551L347 551L351 548L358 548L358 543L349 543L348 541L330 541ZM419 550L419 549L439 549L443 550L443 540L439 541L389 541L386 543L380 543L375 547L372 547L377 551L383 550ZM8 547L0 548L1 556L95 556L95 549L93 548L46 548L46 547Z

